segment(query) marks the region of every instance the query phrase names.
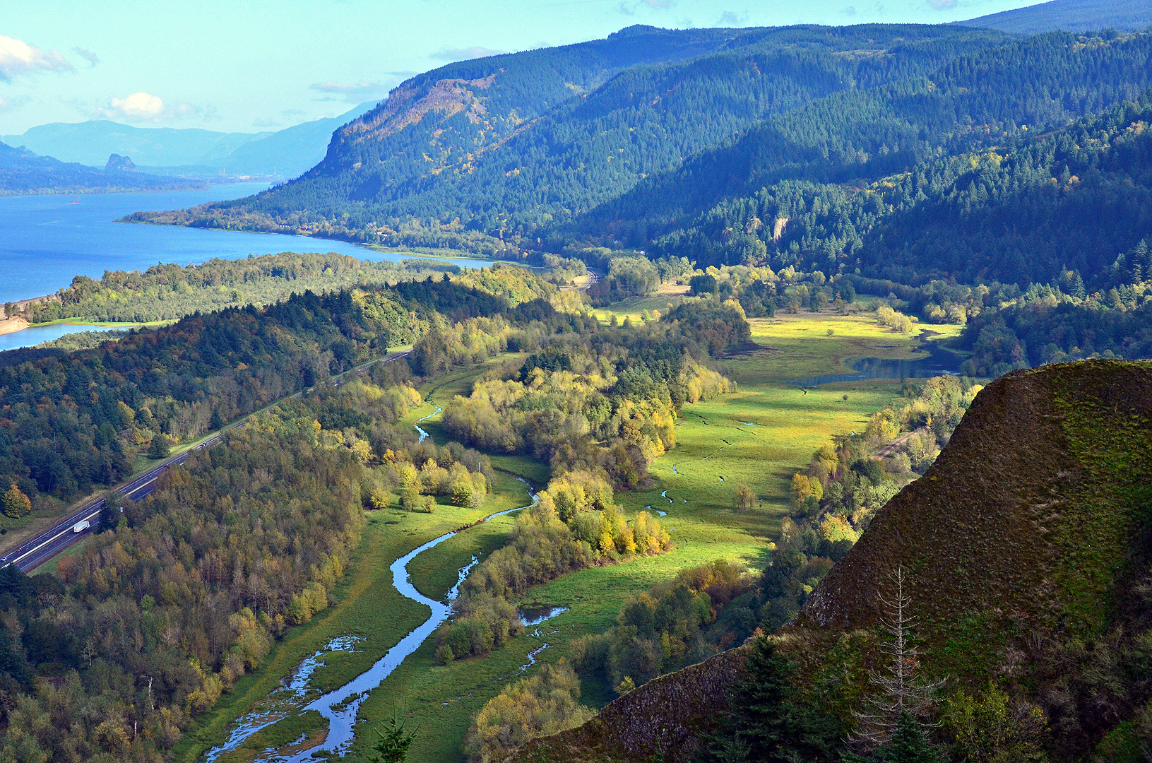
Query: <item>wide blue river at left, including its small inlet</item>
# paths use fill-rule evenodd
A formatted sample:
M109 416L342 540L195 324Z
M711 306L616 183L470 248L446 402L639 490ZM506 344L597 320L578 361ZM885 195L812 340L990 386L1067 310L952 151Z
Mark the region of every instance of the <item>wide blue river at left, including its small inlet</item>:
M410 256L308 236L115 222L131 212L176 210L240 198L266 187L236 183L197 191L0 198L0 303L53 294L71 284L76 275L99 279L106 270L144 270L157 263L187 265L213 257L235 259L281 251L335 251L369 260ZM491 264L445 259L464 267ZM0 349L28 347L73 331L91 330L91 326L46 326L3 334Z

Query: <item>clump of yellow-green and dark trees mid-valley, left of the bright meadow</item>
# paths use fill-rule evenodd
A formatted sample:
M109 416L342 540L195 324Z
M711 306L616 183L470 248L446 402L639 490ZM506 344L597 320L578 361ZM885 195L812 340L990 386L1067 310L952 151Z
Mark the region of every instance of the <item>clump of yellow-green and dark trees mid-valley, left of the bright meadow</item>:
M480 450L530 454L555 473L602 470L614 484L637 486L675 445L680 407L728 390L705 365L710 354L749 335L738 309L723 304L673 310L643 327L591 318L583 326L457 395L445 407L445 431Z

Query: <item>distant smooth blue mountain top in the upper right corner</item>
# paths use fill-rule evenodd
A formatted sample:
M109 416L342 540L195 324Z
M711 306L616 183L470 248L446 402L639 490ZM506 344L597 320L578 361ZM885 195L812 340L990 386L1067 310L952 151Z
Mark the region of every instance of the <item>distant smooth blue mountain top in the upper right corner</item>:
M1083 32L1096 29L1137 31L1152 27L1149 0L1051 0L1037 6L1005 10L957 22L1017 35L1039 35L1063 30Z

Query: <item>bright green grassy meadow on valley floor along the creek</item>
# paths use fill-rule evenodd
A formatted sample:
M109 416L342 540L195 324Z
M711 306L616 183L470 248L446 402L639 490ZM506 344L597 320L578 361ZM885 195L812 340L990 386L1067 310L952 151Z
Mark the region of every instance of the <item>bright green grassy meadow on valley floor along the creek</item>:
M621 305L632 310L635 305ZM651 309L651 308L635 308ZM659 308L657 308L659 309ZM627 312L624 315L628 315ZM788 482L813 450L832 436L859 431L867 418L900 395L900 380L867 380L801 390L788 379L821 373L847 373L855 358L911 358L918 338L893 333L867 313L787 315L755 319L755 347L725 360L726 375L737 390L714 400L685 406L676 426L677 446L651 467L653 485L616 496L627 514L651 506L675 547L667 554L621 565L585 569L532 589L522 605L569 607L529 633L493 650L483 659L437 665L434 640L410 656L361 708L364 725L351 760L366 760L374 740L369 730L389 717L403 717L418 728L409 760L456 763L472 717L510 681L531 674L533 659L554 662L569 654L584 634L614 624L628 596L673 576L679 569L715 558L761 565L788 501ZM943 335L957 327L933 326ZM832 333L828 333L832 330ZM479 369L440 379L422 390L427 403L409 414L412 422L442 406L453 394L467 394L479 373L518 356L492 358ZM844 398L847 395L847 399ZM439 416L420 426L442 441ZM525 488L514 475L543 486L547 468L517 456L493 458L501 470L498 493L476 514L522 505ZM759 496L759 506L740 513L733 491L743 482ZM661 492L667 492L667 497ZM670 498L670 503L669 503ZM473 556L483 559L502 545L511 516L472 527L417 557L412 581L423 594L440 598L455 584L457 571ZM388 565L417 544L471 521L463 509L442 507L432 515L378 512L370 519L364 545L340 602L298 628L278 647L270 665L237 685L202 724L199 739L218 739L223 724L258 703L280 677L327 640L355 633L367 636L356 652L336 652L313 675L318 689L331 688L367 667L419 622L426 611L402 599L391 586ZM455 524L454 524L455 522ZM543 648L543 649L541 649ZM535 655L531 656L531 655ZM600 707L611 698L602 686L586 683L583 701ZM182 743L181 760L191 760L192 745Z

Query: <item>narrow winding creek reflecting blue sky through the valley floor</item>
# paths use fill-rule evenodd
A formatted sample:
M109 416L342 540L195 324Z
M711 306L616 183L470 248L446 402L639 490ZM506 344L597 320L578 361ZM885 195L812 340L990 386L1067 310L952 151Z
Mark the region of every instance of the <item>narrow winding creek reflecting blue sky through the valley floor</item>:
M434 411L418 420L418 422L426 421L432 416L435 416L438 413L440 413L439 406ZM416 426L416 430L420 433L420 441L423 441L424 438L427 437L427 432L425 432L423 429L419 428L418 422L417 424L414 425ZM517 479L520 479L528 486L529 498L535 503L536 496L532 493L531 485L529 485L528 481L525 479L522 479L520 477L517 477ZM480 522L487 522L488 520L492 520L497 516L502 516L505 514L518 512L522 508L528 508L528 506L531 506L531 504L518 506L516 508L508 508L502 512L495 512L494 514L488 514L483 520L480 520ZM372 665L372 667L364 671L363 673L354 678L348 683L344 683L340 688L333 689L332 692L328 692L327 694L324 694L320 697L312 700L302 708L298 707L298 704L297 707L285 708L283 704L288 705L291 704L289 698L289 701L287 703L283 703L279 710L270 711L267 708L264 708L262 710L256 710L247 716L238 718L233 724L233 728L228 735L228 740L223 745L214 747L207 753L205 753L202 760L205 763L213 763L213 761L215 761L222 754L227 753L228 750L236 749L241 743L244 742L244 740L247 740L262 728L271 726L272 724L287 717L291 712L306 712L308 710L316 710L321 716L324 716L324 718L328 722L327 738L316 747L309 748L289 757L278 757L276 760L280 763L304 763L305 761L314 761L316 760L314 755L317 753L320 753L321 750L328 753L329 755L343 756L351 747L351 742L356 735L356 716L359 712L361 703L364 702L364 700L367 697L369 693L372 689L378 687L380 682L384 681L384 679L386 679L388 675L391 675L392 672L396 670L409 655L416 651L419 648L419 645L423 644L424 641L435 632L435 629L440 626L441 622L448 619L448 615L452 613L452 602L460 594L461 584L468 577L468 574L472 571L472 568L477 564L479 564L479 560L476 557L472 557L472 560L468 565L460 568L460 574L456 580L456 584L452 587L452 590L448 591L448 595L445 597L442 602L437 602L434 599L431 599L420 594L418 590L416 590L416 587L412 584L411 581L411 575L408 572L409 562L411 562L412 559L415 559L423 552L444 543L445 541L455 536L461 530L453 530L452 532L446 532L440 537L429 541L422 546L412 549L407 554L392 562L392 566L389 567L389 569L392 569L392 584L396 588L396 590L400 591L402 596L407 596L414 602L418 602L431 610L431 614L429 615L427 620L417 626L407 636L401 639L400 643L389 649L384 655L384 657L378 659L376 664ZM547 617L553 617L554 614L559 614L560 611L563 611L560 607L555 609L558 611L550 612ZM535 620L532 625L535 625L536 622L541 622L543 620L547 619L547 617L543 617L538 620ZM293 671L293 674L290 674L285 679L283 686L280 689L276 689L276 692L274 692L273 694L285 690L295 692L296 698L302 700L306 692L309 678L311 677L312 671L316 670L319 658L324 654L327 654L328 651L334 651L335 649L350 648L354 645L354 643L355 642L353 641L349 641L347 643L346 642L338 643L334 641L329 643L325 650L320 650L314 655L312 655L311 657L309 657L308 659L305 659L295 671ZM539 649L535 650L532 655L530 655L531 662L529 663L529 665L536 662L536 655L539 654L546 647L547 644L544 644Z

